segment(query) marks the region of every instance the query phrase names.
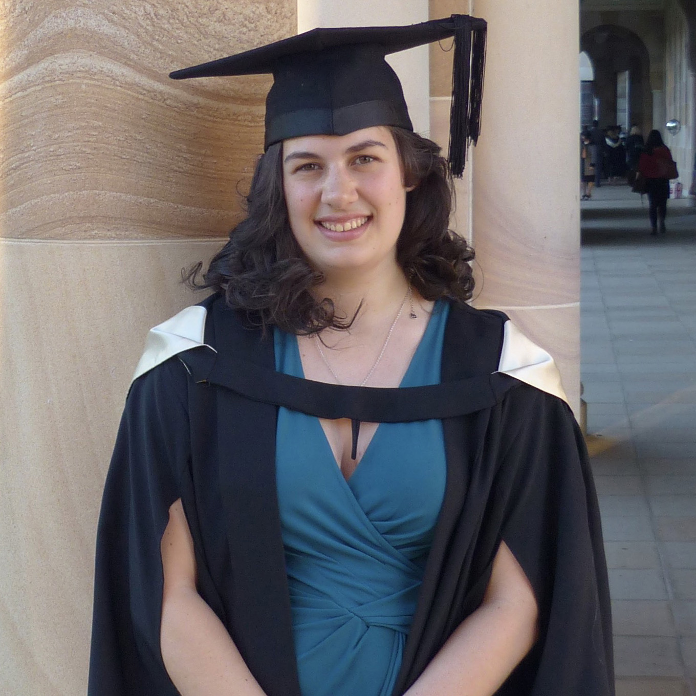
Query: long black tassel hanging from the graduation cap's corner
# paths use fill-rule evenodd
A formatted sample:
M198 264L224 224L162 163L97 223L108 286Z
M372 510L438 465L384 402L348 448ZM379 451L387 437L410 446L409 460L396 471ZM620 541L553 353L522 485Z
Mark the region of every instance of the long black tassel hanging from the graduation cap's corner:
M470 143L476 143L481 127L481 100L486 59L486 29L483 19L452 15L454 21L454 66L450 109L450 172L461 177Z

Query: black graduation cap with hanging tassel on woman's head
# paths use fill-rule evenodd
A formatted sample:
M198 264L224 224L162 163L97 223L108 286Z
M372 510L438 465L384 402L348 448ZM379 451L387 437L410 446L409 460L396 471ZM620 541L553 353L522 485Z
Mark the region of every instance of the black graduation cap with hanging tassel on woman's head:
M176 70L169 77L273 74L264 149L287 138L345 135L377 125L413 130L401 83L384 59L454 38L450 171L461 176L480 131L486 22L468 15L409 26L312 29L267 46Z

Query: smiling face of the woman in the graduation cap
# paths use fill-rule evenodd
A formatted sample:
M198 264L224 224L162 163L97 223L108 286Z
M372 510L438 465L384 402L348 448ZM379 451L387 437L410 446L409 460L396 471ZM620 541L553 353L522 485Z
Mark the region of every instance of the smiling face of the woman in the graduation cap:
M290 227L317 271L380 271L396 265L406 209L402 166L386 127L283 143Z

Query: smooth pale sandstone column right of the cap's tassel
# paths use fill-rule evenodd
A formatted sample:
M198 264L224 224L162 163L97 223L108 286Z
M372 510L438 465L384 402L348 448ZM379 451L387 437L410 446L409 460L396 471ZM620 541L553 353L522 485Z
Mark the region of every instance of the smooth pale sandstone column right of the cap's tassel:
M551 352L577 414L578 6L474 0L473 13L489 22L471 170L475 304L504 310Z

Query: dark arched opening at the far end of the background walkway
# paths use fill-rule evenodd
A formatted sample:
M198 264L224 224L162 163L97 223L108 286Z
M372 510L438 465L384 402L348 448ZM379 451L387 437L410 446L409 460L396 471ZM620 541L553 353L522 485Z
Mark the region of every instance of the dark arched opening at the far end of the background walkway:
M652 127L653 96L650 84L650 58L638 34L623 26L601 24L580 37L580 50L594 63L594 93L599 99L600 125L617 120L616 75L631 74L631 122L647 132ZM622 124L631 127L631 123Z

